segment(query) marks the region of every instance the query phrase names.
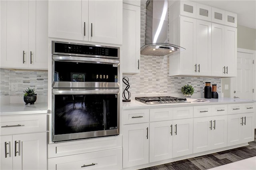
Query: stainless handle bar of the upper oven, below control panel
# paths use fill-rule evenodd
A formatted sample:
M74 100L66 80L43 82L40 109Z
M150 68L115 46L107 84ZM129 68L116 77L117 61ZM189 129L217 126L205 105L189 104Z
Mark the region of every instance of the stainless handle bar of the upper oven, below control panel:
M90 62L90 63L110 63L119 64L119 60L97 58L97 57L79 57L71 55L52 55L54 61L71 61L71 62Z

